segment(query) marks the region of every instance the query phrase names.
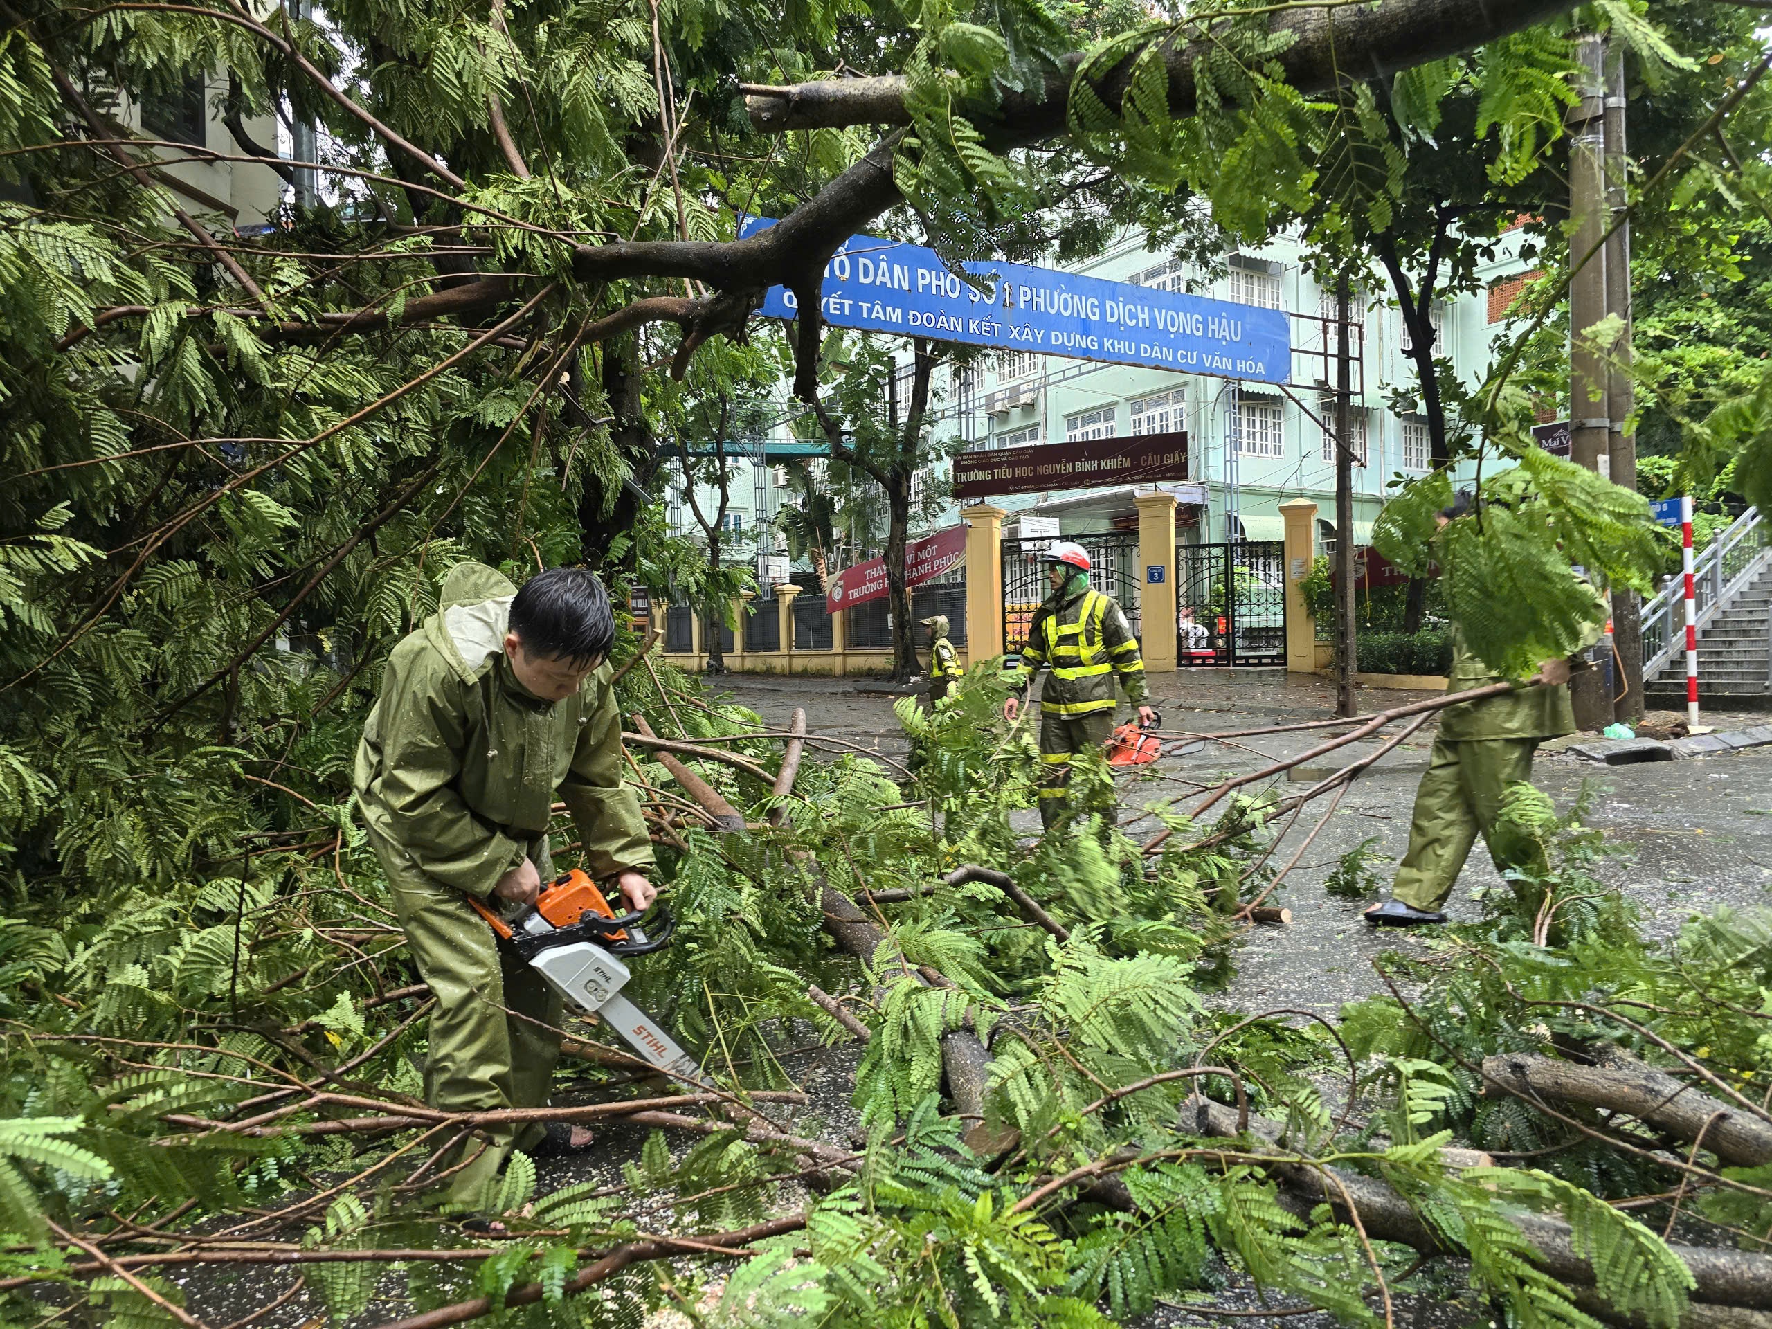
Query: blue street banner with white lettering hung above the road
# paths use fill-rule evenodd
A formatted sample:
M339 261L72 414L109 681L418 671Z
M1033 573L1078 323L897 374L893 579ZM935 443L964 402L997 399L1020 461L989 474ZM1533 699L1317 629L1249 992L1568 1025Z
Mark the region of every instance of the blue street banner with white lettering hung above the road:
M773 225L771 218L746 218L739 237ZM966 269L983 278L985 291L962 282L921 245L851 236L824 269L819 308L833 328L1256 383L1290 379L1292 321L1285 310L1022 262L973 262ZM794 292L769 287L762 314L792 319Z

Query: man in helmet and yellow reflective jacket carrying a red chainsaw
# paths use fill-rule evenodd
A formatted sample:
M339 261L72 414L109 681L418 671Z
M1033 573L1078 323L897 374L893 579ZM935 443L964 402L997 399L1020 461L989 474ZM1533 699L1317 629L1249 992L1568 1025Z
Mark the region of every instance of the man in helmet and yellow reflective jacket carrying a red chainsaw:
M1113 734L1113 680L1120 677L1138 718L1155 723L1145 705L1145 661L1125 611L1090 587L1088 551L1060 540L1047 551L1053 594L1033 613L1021 666L1010 677L1015 695L1003 702L1014 721L1033 675L1045 664L1051 677L1040 688L1040 822L1051 826L1065 815L1070 758L1100 751Z

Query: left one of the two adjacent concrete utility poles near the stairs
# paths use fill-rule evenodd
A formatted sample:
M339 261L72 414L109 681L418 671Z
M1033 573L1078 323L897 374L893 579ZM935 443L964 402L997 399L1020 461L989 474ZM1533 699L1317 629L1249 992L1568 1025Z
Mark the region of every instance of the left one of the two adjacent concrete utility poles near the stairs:
M1605 317L1605 46L1595 34L1575 43L1582 67L1581 101L1568 108L1568 211L1574 222L1568 287L1570 328L1570 452L1577 466L1611 471L1611 415L1605 356L1588 340L1588 330ZM1570 680L1575 723L1597 730L1613 723L1613 698L1602 670L1584 670Z

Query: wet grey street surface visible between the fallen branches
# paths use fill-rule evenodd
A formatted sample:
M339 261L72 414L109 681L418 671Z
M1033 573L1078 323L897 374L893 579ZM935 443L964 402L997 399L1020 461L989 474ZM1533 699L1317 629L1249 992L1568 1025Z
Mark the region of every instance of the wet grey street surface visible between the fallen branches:
M829 734L863 748L902 758L905 751L898 719L891 711L890 684L877 679L783 679L727 675L709 680L730 700L753 707L771 725L785 727L796 705L806 707L812 732ZM1200 670L1150 675L1154 705L1162 711L1164 732L1223 732L1325 719L1334 714L1334 688L1313 675L1279 670ZM1380 688L1359 689L1363 712L1377 712L1434 693ZM1705 716L1719 728L1760 723L1763 716ZM1295 757L1325 741L1334 730L1278 734L1239 739L1235 748L1209 742L1178 757L1166 757L1159 771L1212 783ZM1416 783L1426 769L1434 744L1434 721L1373 764L1347 792L1327 826L1304 851L1272 904L1292 909L1292 923L1255 929L1237 955L1237 978L1221 996L1242 1010L1302 1006L1333 1014L1345 1001L1380 991L1373 960L1407 948L1414 937L1398 930L1364 925L1361 911L1370 900L1345 900L1324 891L1324 879L1340 858L1372 840L1373 870L1382 882L1409 842L1409 813ZM1377 741L1341 748L1311 758L1294 771L1299 780L1320 780L1347 760L1370 755ZM1772 748L1703 757L1683 762L1648 762L1605 767L1570 753L1542 753L1535 783L1566 810L1584 783L1593 790L1591 824L1625 852L1609 859L1600 877L1616 884L1643 913L1644 930L1667 936L1692 913L1717 905L1772 904ZM1150 783L1127 790L1127 801L1173 797L1177 785ZM1185 806L1185 804L1184 804ZM1306 810L1274 849L1272 861L1285 865L1317 826L1320 812ZM1038 828L1035 813L1019 824ZM1453 920L1480 916L1474 891L1501 888L1501 877L1481 843L1446 905Z

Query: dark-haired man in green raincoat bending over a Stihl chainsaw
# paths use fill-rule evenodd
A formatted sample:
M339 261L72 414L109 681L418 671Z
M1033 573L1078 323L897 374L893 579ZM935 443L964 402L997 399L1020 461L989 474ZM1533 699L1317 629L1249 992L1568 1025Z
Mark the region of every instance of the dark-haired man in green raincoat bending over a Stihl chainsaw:
M496 944L470 897L533 904L555 875L548 817L565 801L583 867L631 909L652 904L640 801L622 785L615 618L588 569L523 590L480 563L443 583L438 613L388 656L356 750L356 797L418 973L431 985L425 1102L443 1111L540 1108L560 1056L560 998ZM491 1129L450 1182L452 1209L484 1209L512 1148L588 1145L578 1129Z

